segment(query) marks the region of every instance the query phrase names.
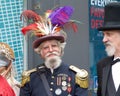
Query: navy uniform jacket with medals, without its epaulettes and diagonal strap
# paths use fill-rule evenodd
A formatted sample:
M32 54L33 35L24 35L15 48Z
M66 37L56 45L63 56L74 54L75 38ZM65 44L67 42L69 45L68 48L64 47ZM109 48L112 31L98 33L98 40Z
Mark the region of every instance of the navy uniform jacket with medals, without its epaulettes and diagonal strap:
M81 88L75 83L75 72L68 65L54 70L45 68L45 75L53 96L88 96L87 88ZM47 96L38 71L31 73L30 81L20 89L20 96Z

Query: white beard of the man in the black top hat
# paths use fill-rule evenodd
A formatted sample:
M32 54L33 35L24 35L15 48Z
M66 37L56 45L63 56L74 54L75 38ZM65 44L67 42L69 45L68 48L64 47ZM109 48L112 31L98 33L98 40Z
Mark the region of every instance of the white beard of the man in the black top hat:
M115 47L111 43L107 43L106 45L106 53L108 56L113 56L115 54Z

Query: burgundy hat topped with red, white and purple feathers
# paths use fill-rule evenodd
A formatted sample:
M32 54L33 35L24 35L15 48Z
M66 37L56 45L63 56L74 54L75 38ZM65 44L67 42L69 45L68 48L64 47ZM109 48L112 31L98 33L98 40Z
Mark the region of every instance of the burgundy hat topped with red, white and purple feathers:
M54 10L47 10L45 15L41 16L32 10L25 10L20 18L21 20L26 20L29 25L23 27L21 31L24 35L32 31L37 37L33 42L33 48L37 48L42 42L51 39L56 39L63 43L66 41L64 29L73 28L75 32L77 31L76 21L70 20L73 11L73 7L63 6Z

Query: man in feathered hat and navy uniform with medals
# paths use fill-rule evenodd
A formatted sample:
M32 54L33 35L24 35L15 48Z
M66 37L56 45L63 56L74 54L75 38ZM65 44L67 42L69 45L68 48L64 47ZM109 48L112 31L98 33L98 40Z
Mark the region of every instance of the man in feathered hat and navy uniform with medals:
M71 6L48 10L45 17L31 10L25 10L21 17L34 22L23 27L23 34L34 33L33 42L44 63L37 68L24 71L20 96L88 96L88 73L62 61L67 34L64 28L73 27L74 20L69 20L73 12ZM66 26L66 27L65 27Z

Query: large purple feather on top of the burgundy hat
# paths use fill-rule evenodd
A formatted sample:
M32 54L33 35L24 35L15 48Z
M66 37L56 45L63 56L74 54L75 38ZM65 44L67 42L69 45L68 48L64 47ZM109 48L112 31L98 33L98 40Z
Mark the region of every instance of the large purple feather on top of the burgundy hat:
M74 9L71 6L63 6L53 10L53 12L49 16L53 26L63 26L66 22L70 20L73 10Z

